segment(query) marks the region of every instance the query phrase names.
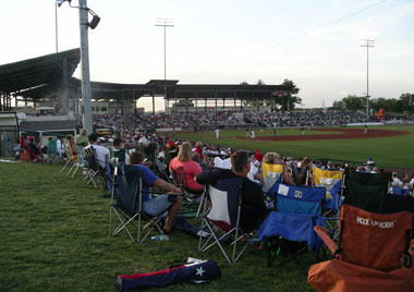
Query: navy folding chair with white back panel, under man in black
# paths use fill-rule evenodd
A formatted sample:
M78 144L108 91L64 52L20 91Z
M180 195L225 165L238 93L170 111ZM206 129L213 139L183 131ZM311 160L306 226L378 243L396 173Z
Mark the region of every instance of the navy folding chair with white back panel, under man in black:
M243 180L239 178L217 181L212 185L208 185L208 204L207 199L204 200L198 251L205 252L217 244L229 264L238 261L248 245L246 240L244 246L238 251L238 242L249 236L239 226L242 207L242 183ZM209 205L208 210L207 205ZM204 230L207 229L209 234L205 236L207 232ZM220 231L223 234L220 234ZM231 255L226 252L222 245L222 241L229 236L232 236L231 245L233 245Z

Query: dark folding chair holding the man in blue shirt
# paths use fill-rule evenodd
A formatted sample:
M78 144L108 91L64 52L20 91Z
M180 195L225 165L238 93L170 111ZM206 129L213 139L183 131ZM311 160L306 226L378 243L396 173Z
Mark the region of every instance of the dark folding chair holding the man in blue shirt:
M149 216L143 210L143 172L139 168L134 166L125 166L119 163L113 171L113 187L111 196L111 207L109 215L109 234L114 236L121 230L125 230L132 241L132 235L129 226L132 226L137 231L136 242L143 243L153 230L157 230L159 234L163 234L159 226L159 217L166 210L162 210L157 216ZM118 193L118 199L114 202L114 194ZM119 226L112 231L112 212L120 220ZM141 226L142 220L148 221L144 227ZM141 232L148 229L141 236Z

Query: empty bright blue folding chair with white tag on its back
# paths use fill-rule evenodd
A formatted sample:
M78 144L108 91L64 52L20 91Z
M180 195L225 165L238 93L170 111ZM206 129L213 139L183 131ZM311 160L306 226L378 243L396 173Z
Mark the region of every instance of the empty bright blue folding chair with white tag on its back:
M302 267L296 255L307 248L314 253L317 261L321 241L314 232L314 227L325 226L321 217L325 187L300 187L277 183L275 188L277 211L271 211L257 231L259 241L270 243L268 266L271 266L279 251L287 257L278 266L293 258ZM285 240L307 244L292 251L285 244Z

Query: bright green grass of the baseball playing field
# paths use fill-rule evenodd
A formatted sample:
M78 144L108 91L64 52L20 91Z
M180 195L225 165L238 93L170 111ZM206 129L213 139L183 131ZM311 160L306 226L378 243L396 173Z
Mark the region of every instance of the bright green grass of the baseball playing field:
M409 135L394 137L361 138L361 139L320 139L320 141L275 141L252 142L231 138L232 136L244 137L244 130L222 130L219 141L212 131L196 133L175 133L175 137L204 143L219 144L220 146L254 150L261 153L276 151L288 157L328 157L337 160L366 162L373 157L376 166L381 168L414 168L414 126L381 126L381 130L401 130L410 132ZM272 136L272 131L267 130L264 134L255 131L256 136ZM334 132L306 131L305 135L328 134ZM278 136L300 135L299 130L278 130ZM226 137L224 137L226 136Z

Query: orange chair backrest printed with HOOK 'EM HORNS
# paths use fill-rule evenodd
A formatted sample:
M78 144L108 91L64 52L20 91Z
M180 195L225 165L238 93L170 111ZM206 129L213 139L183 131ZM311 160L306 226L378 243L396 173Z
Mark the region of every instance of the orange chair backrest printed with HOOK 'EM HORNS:
M343 205L340 217L341 260L381 271L401 267L413 228L413 214L374 214Z

